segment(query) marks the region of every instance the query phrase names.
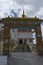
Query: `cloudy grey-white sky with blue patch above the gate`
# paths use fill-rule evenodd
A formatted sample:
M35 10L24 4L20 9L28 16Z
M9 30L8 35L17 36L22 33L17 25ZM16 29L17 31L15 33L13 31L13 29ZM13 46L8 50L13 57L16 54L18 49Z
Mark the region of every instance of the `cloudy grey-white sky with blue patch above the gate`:
M23 8L27 17L43 19L43 0L0 0L0 18L21 17ZM41 24L43 35L43 24Z

